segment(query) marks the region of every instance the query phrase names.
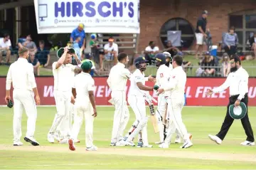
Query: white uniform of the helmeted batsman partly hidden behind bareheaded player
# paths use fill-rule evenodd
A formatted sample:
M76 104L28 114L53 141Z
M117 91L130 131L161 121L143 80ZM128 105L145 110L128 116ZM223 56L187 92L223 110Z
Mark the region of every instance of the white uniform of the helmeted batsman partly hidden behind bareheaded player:
M162 85L165 85L168 83L169 77L170 77L171 71L169 67L166 65L160 65L157 72L156 72L156 85L161 87ZM162 123L162 117L165 112L165 105L166 105L166 99L169 96L169 92L164 92L163 94L160 94L158 96L158 105L157 105L157 123L159 126L159 136L160 136L160 142L164 142L164 124Z

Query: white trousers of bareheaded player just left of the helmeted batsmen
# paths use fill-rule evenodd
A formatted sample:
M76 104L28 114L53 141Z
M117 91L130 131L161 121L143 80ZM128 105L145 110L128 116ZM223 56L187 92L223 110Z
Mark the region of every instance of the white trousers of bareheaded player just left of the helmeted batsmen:
M114 102L114 120L111 142L115 143L123 139L124 129L129 121L125 91L112 91L111 97Z

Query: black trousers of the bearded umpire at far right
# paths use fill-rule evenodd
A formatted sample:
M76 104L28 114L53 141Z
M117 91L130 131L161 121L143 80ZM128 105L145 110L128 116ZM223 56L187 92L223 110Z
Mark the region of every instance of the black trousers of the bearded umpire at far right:
M230 105L233 105L237 99L238 99L238 95L231 96L229 98L228 107ZM241 100L241 102L244 102L246 107L247 107L247 104L248 104L248 96L247 96L247 94L245 94L245 97ZM221 126L220 132L216 135L217 137L219 137L222 140L225 138L225 135L228 133L228 129L231 127L231 125L234 122L234 119L232 117L230 117L230 115L229 115L228 107L227 107L227 113L226 113L224 122L223 122L223 124ZM241 119L241 122L242 122L242 127L245 129L245 134L247 135L247 139L246 140L249 141L249 142L254 142L255 139L253 137L252 127L251 127L251 124L250 124L250 121L249 121L249 117L248 117L248 110L246 112L245 117L243 117Z

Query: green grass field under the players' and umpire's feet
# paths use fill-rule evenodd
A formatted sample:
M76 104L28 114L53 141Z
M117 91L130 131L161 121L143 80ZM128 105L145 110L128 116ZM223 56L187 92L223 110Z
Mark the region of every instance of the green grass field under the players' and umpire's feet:
M47 133L53 122L55 107L38 107L38 119L36 123L35 137L41 146L48 148L62 149L62 152L47 150L36 150L36 147L29 147L30 144L23 142L24 150L16 151L11 147L13 139L12 117L13 110L7 107L0 107L0 129L2 131L0 138L0 169L255 169L256 161L231 161L231 160L213 160L195 158L176 158L175 156L137 156L144 152L163 152L154 142L159 141L159 134L154 134L151 122L148 123L149 142L154 145L152 149L137 149L132 147L122 147L129 152L134 151L134 156L117 154L118 150L109 146L111 132L113 107L98 107L98 117L94 124L95 145L99 147L98 152L84 152L85 149L85 124L80 129L78 138L80 144L77 144L78 151L70 152L65 144L50 144L47 142ZM249 107L250 122L255 129L256 107ZM148 113L149 114L149 113ZM240 142L246 139L245 132L242 129L240 121L235 121L228 132L223 144L218 145L208 139L208 134L216 134L225 117L225 107L184 107L183 122L186 124L188 132L193 134L193 147L179 149L181 144L171 144L169 149L164 149L166 154L184 153L186 154L209 154L231 155L234 158L241 154L249 154L255 157L256 147L242 147ZM127 130L134 122L134 113L130 110L130 119ZM26 134L26 115L22 118L23 136ZM126 131L127 132L127 131ZM22 137L23 137L22 136ZM174 139L173 139L174 140ZM135 140L135 142L137 139ZM3 147L6 145L6 147ZM11 149L10 149L11 148ZM29 150L31 149L31 150ZM100 149L110 149L107 155ZM99 153L99 154L98 154ZM133 152L132 152L133 153ZM163 152L164 153L164 152Z

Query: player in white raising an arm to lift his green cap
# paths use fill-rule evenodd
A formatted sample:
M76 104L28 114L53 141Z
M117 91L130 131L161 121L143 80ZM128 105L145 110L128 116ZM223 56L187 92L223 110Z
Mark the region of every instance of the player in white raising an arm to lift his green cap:
M53 77L54 77L54 98L56 103L57 114L53 120L53 125L50 127L48 133L48 142L54 143L54 133L57 127L63 121L63 119L70 114L70 102L75 103L75 99L72 95L72 83L74 78L74 72L80 72L80 68L77 65L72 65L72 55L75 54L73 48L60 48L57 52L59 60L53 63ZM77 55L78 65L80 60ZM68 122L68 121L67 121ZM67 137L68 138L68 137ZM68 139L64 138L60 140L60 143L68 143Z

